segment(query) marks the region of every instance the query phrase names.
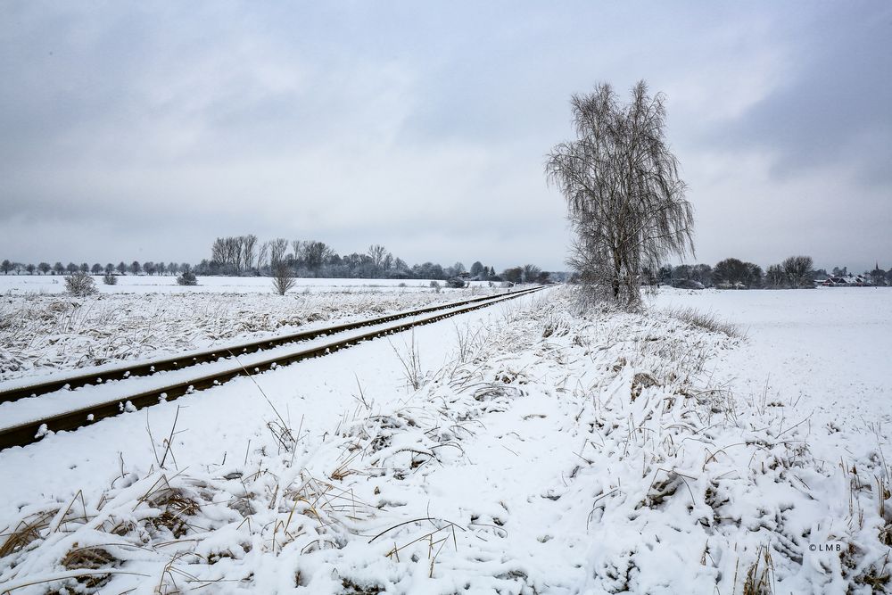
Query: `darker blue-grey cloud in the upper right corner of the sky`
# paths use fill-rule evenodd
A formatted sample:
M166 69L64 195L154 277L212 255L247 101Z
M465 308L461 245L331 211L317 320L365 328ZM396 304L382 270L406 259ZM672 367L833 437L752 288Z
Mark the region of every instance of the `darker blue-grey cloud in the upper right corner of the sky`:
M781 27L797 47L790 77L729 128L724 144L772 150L773 173L851 165L869 184L892 183L892 6L818 5Z

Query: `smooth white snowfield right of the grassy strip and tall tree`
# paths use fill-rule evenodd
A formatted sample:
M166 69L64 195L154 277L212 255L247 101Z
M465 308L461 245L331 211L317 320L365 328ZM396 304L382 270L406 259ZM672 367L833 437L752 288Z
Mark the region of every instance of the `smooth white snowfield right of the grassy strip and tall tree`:
M853 429L865 421L890 421L892 288L670 289L651 303L713 312L739 325L747 347L723 353L713 364L736 379L738 393L767 390L772 400L836 412Z

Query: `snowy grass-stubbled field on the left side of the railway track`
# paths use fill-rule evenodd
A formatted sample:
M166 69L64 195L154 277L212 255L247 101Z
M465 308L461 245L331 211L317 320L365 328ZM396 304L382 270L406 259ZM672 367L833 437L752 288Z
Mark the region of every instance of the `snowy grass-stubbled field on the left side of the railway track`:
M216 348L326 326L335 320L370 318L503 291L488 286L460 291L434 291L427 286L420 291L416 286L400 287L387 281L381 283L388 285L371 288L324 283L335 284L340 279L301 279L315 285L305 285L281 296L270 293L270 282L265 277L239 277L235 281L208 277L202 278L202 282L211 285L186 288L194 292L142 293L139 290L157 287L125 285L125 281L159 277L121 277L121 285L111 286L115 293L106 293L109 286L100 285L102 293L78 298L22 292L22 288L29 287L25 282L33 278L0 277L0 286L17 281L19 285L15 287L20 290L0 296L0 382ZM37 277L41 282L45 278ZM174 283L172 277L160 278ZM227 280L241 285L221 285ZM265 293L255 293L259 281ZM367 280L368 283L373 281ZM116 293L127 287L136 293ZM221 287L237 293L197 291Z

